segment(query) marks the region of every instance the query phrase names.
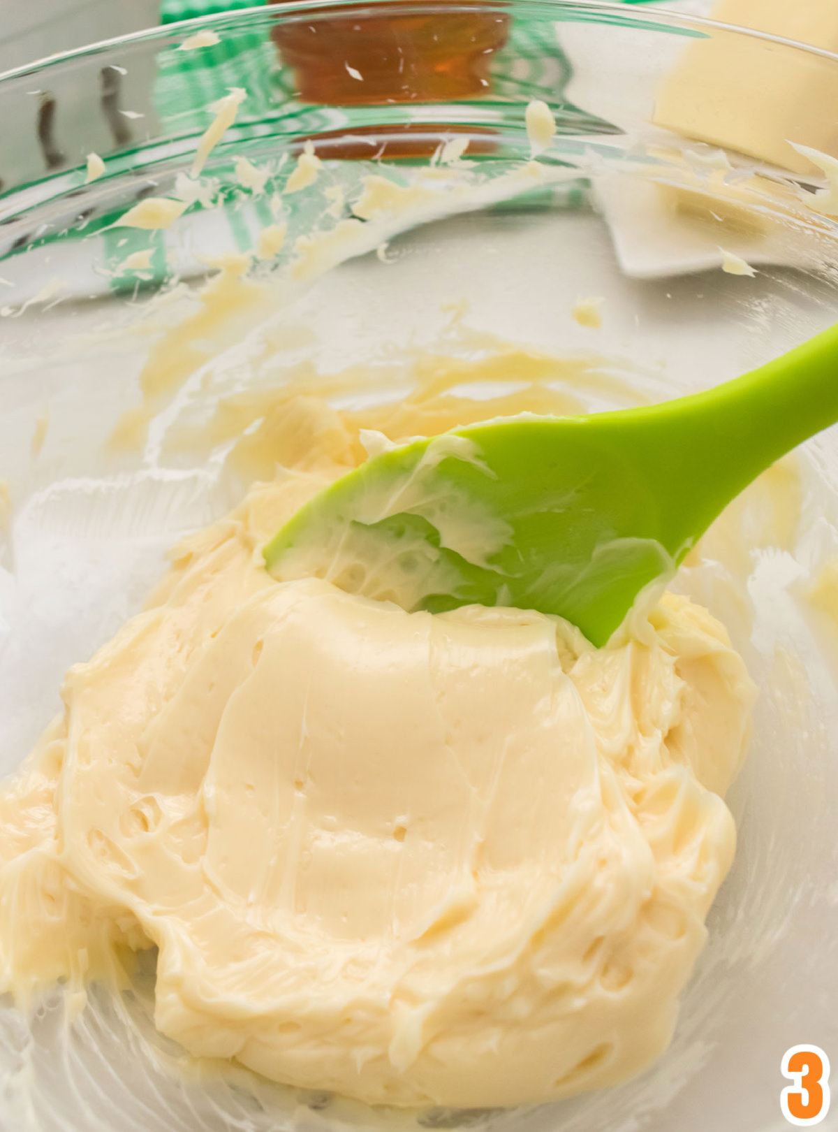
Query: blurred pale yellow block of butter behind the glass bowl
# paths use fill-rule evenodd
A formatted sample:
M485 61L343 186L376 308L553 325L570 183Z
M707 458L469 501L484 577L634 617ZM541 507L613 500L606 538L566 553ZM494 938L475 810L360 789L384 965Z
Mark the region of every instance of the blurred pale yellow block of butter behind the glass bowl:
M719 23L838 51L838 0L719 0ZM708 28L709 32L709 28ZM693 40L660 86L655 125L815 172L789 142L838 149L838 62L789 43L712 31Z

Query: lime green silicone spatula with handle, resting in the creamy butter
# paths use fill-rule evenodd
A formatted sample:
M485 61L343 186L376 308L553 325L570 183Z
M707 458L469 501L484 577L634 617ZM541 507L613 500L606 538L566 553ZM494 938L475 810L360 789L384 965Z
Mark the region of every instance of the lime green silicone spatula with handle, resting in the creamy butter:
M677 401L487 421L371 454L282 528L266 565L408 610L559 614L602 645L751 480L837 420L833 327Z

